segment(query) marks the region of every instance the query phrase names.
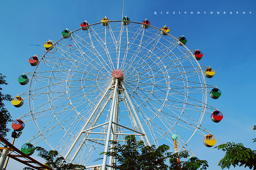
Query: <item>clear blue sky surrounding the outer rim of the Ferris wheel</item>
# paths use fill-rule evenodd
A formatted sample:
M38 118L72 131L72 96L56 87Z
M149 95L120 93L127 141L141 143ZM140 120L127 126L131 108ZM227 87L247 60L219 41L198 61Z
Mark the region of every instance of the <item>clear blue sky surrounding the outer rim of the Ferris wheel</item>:
M45 41L59 40L62 30L76 30L84 20L91 24L100 22L105 16L110 20L121 20L122 8L122 0L0 1L0 73L8 77L9 83L3 86L3 92L14 97L28 91L28 85L21 86L17 78L23 72L34 70L28 58L34 54L43 55L41 48L44 48ZM254 0L125 0L124 16L137 22L147 18L151 25L158 28L168 26L175 37L184 35L190 50L203 52L200 65L211 66L216 71L213 78L206 78L206 82L218 86L222 94L218 100L208 96L207 104L218 108L224 118L214 123L207 114L201 124L216 137L215 146L230 141L256 149L256 144L252 143L252 138L256 137L256 131L252 130L256 124L256 76L253 71L256 69L255 9ZM29 43L41 46L29 47ZM26 102L20 108L5 102L13 120L28 112ZM11 124L8 127L11 129ZM20 148L26 143L34 135L31 133L34 130L32 122L26 123L15 146ZM8 138L12 140L11 132ZM50 149L44 143L42 146ZM208 170L221 169L217 165L224 152L204 146L202 136L193 137L189 147L196 157L209 162ZM7 169L20 170L23 167L10 160Z

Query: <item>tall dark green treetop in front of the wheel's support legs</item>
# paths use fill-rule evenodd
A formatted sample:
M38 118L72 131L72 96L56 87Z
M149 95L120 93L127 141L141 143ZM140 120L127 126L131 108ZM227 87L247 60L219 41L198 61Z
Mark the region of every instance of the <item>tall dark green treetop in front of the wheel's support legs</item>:
M145 146L142 141L137 142L134 135L126 136L126 144L120 145L118 142L111 141L114 144L113 152L106 152L108 156L113 156L119 165L113 163L114 169L121 170L167 170L165 164L164 152L170 147L161 145L157 149L153 146ZM103 152L104 153L104 152ZM101 153L101 154L103 154Z

